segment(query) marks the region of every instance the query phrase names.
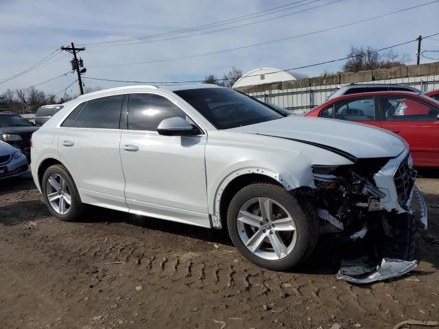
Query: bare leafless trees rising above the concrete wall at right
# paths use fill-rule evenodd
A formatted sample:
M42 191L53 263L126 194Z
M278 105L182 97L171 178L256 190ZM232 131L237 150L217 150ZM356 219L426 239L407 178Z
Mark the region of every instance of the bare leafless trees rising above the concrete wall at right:
M380 53L370 46L366 47L366 49L352 46L348 56L351 58L346 60L343 67L344 72L386 69L403 66L410 62L410 58L406 54L399 55L392 49L386 53Z

